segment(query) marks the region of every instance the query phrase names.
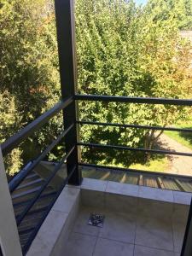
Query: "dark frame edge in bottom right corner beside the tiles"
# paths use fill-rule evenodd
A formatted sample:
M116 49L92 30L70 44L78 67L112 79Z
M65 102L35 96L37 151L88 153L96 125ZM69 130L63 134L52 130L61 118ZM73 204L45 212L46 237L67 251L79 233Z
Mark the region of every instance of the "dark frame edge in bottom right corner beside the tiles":
M189 209L189 218L185 230L181 256L192 255L192 200Z

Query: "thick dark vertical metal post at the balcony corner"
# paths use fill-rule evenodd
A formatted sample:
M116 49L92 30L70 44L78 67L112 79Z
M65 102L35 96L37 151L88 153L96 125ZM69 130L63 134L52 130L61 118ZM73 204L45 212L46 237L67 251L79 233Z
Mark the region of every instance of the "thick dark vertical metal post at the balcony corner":
M73 0L55 0L55 20L61 75L61 97L63 100L68 96L74 97L77 90L77 64L73 9ZM74 123L73 129L65 138L67 152L69 152L75 145L73 153L67 159L68 174L73 170L73 167L76 166L76 171L70 178L69 183L79 185L82 181L82 175L79 169L79 147L77 145L77 113L77 102L74 100L64 110L63 115L65 129Z

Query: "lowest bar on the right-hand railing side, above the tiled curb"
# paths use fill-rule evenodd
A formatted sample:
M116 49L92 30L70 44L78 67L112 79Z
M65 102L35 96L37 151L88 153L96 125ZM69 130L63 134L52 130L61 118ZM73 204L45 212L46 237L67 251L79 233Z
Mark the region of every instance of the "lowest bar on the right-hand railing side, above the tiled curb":
M98 168L98 169L106 169L106 170L116 170L121 172L131 172L132 174L143 174L143 175L151 175L151 176L160 176L160 177L173 177L173 178L189 178L191 179L192 176L183 176L179 174L172 174L168 172L156 172L156 171L145 171L145 170L138 170L138 169L132 169L132 168L123 168L123 167L115 167L115 166L101 166L101 165L95 165L95 164L85 164L85 163L79 163L79 166L84 167L91 167L91 168Z

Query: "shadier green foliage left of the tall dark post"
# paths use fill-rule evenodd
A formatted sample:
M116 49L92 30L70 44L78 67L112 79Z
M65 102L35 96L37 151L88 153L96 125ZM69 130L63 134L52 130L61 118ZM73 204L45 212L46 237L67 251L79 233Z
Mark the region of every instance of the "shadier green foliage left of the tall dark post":
M0 0L0 143L58 102L56 45L52 1ZM57 128L55 120L20 145L21 155L13 151L8 171L14 173L22 159L36 156Z

